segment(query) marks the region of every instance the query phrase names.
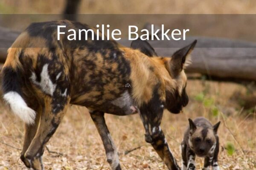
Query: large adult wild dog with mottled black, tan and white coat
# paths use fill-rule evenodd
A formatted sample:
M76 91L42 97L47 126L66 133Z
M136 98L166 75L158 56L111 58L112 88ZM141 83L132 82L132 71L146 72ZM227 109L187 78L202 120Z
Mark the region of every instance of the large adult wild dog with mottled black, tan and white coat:
M196 41L172 57L148 57L155 52L143 41L132 43L138 49L112 40L57 41L58 25L90 28L67 20L32 23L9 48L2 70L3 98L26 123L20 156L26 167L44 169L44 147L74 104L90 110L113 170L121 167L104 113L140 113L145 141L169 170L180 170L160 123L164 108L179 113L188 103L183 67Z

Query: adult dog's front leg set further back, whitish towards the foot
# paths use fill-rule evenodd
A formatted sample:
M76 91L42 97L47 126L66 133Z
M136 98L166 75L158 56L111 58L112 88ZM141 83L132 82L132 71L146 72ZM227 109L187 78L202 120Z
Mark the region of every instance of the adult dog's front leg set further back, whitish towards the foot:
M91 118L99 132L102 139L103 145L105 147L107 161L111 166L112 170L121 170L119 164L118 151L111 138L108 127L105 122L104 113L99 111L93 111L90 113Z

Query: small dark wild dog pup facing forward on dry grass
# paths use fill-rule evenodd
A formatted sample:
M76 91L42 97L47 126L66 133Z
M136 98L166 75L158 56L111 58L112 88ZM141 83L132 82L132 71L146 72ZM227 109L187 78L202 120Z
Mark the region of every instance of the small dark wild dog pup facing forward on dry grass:
M204 117L194 121L189 119L183 142L181 143L182 170L195 170L195 156L204 157L203 170L219 170L219 139L217 130L221 122L212 124Z

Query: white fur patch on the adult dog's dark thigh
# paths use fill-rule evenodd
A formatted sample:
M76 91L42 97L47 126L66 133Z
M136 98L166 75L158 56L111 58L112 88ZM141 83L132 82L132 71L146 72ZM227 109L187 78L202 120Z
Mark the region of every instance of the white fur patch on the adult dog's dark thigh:
M48 74L48 65L49 64L45 64L42 68L42 72L40 74L41 76L40 82L36 81L35 73L32 73L32 76L30 77L30 79L33 81L33 83L35 83L36 85L39 85L46 94L49 94L52 96L53 92L55 91L56 84L53 84L50 79L50 76Z

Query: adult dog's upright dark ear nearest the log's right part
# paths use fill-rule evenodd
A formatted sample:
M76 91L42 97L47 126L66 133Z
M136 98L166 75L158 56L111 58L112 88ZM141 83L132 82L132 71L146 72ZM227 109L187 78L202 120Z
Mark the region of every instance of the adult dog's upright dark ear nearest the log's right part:
M176 51L172 55L172 71L175 75L179 74L190 63L189 54L194 49L197 40Z

